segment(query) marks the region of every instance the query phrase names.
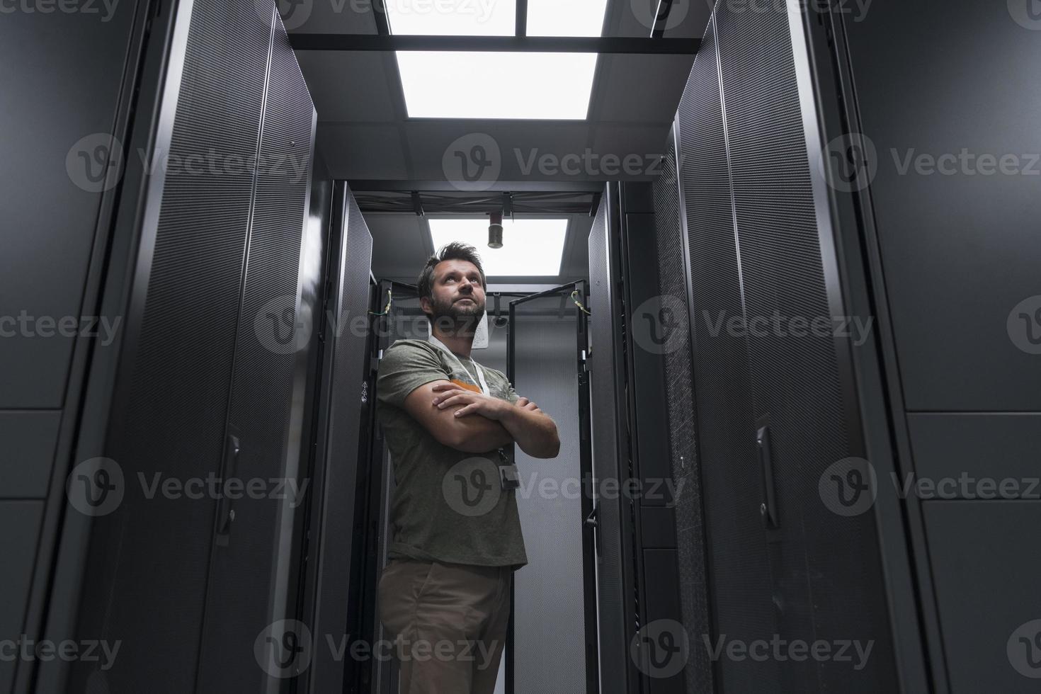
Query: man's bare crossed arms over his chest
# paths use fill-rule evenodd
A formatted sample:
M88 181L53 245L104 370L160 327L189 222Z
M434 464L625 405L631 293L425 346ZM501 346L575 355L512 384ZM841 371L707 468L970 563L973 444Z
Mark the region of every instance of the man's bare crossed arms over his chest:
M527 397L514 404L440 380L409 393L405 410L439 443L463 453L486 453L513 441L532 458L556 458L560 452L557 425Z

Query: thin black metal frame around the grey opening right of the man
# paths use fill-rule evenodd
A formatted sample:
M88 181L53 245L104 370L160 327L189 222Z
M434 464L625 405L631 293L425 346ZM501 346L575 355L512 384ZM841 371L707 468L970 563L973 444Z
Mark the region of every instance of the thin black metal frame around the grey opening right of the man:
M506 374L510 383L514 382L514 356L516 355L516 307L518 304L544 299L560 294L562 304L567 302L572 292L579 292L579 301L582 305L587 305L589 295L589 283L586 280L578 280L562 284L545 291L515 299L509 306L509 328L507 333L506 346ZM566 293L565 293L566 292ZM576 345L575 356L578 386L579 386L579 457L581 475L592 473L592 437L590 435L590 409L589 401L589 374L586 364L586 345L589 343L588 318L585 312L577 311L576 322ZM596 615L596 548L593 535L593 524L589 522L589 517L593 511L593 499L583 490L581 499L581 515L587 519L582 526L582 587L585 611L585 637L586 637L586 694L598 694L600 692L600 654L599 654L599 619ZM506 691L509 694L514 692L513 680L513 586L510 589L510 623L508 626L508 637L506 642ZM592 637L590 639L590 637ZM578 694L578 693L575 693Z

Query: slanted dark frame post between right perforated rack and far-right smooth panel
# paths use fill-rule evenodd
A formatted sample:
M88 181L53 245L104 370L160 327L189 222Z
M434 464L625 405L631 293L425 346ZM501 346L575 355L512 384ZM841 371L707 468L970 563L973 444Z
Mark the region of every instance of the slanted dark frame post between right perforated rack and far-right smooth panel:
M789 10L793 38L797 32L806 48L796 58L807 63L807 88L815 103L815 112L804 118L815 121L813 145L821 148L834 137L863 129L841 10L831 7L820 22L811 21L814 14L805 15ZM878 319L874 339L844 348L863 413L859 433L865 457L880 479L906 473L913 469L910 434L871 189L824 192L845 310ZM943 694L949 684L921 500L910 494L900 504L892 495L879 494L874 511L902 691Z

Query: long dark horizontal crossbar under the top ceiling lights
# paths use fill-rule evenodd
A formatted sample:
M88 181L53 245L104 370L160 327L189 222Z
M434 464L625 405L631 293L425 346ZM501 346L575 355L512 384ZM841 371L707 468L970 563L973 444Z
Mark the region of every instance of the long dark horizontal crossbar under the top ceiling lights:
M520 10L520 3L517 11ZM378 33L294 33L297 51L509 51L694 55L700 38L640 36L438 36Z

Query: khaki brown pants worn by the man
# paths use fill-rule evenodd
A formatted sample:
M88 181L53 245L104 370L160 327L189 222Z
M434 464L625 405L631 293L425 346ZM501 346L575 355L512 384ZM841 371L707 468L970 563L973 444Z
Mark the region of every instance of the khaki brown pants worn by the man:
M392 560L379 610L401 662L400 694L492 694L510 616L508 566Z

